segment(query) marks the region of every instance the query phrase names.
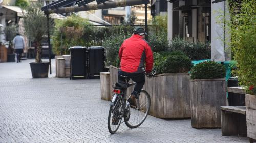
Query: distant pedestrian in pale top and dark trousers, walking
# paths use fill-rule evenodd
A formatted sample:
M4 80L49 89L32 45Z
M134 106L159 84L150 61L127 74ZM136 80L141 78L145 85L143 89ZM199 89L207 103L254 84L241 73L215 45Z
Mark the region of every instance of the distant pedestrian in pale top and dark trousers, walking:
M12 43L17 54L17 63L21 62L20 59L22 59L23 49L25 47L24 38L19 33L17 33L14 39L12 40Z

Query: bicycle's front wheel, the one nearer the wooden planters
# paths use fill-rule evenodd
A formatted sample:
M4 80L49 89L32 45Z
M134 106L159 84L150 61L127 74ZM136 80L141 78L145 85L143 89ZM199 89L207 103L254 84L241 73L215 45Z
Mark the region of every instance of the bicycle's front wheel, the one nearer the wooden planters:
M129 108L125 112L124 123L129 128L139 127L146 119L148 112L150 111L150 95L141 90L137 99L137 108Z

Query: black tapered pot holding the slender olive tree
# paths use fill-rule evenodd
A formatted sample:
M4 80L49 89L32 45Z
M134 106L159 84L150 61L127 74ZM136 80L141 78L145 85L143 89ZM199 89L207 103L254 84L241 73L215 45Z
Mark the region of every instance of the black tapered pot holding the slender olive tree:
M48 77L49 62L31 62L30 68L33 78L46 78Z

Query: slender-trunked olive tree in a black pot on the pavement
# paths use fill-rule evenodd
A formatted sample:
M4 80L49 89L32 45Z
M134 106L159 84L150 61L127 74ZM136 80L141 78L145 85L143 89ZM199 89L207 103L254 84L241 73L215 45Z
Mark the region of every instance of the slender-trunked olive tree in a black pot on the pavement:
M32 77L48 77L49 62L42 62L42 39L47 35L47 17L41 11L42 4L39 2L31 3L23 12L24 28L29 40L35 41L36 58L35 62L30 63ZM50 30L52 25L50 24Z

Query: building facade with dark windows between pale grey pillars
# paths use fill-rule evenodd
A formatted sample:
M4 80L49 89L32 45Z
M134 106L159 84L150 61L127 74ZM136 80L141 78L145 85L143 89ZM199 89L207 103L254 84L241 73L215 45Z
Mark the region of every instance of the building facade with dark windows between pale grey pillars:
M167 0L168 39L184 38L191 42L211 43L211 60L231 60L228 46L229 32L218 17L228 20L228 1L212 3L214 0Z

